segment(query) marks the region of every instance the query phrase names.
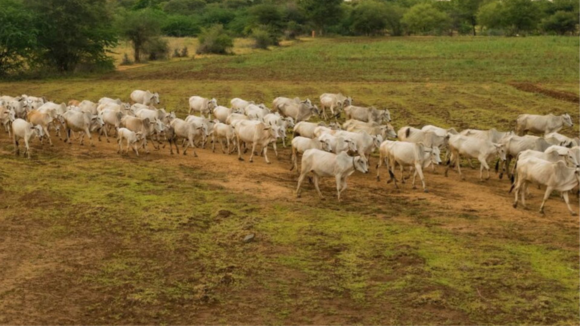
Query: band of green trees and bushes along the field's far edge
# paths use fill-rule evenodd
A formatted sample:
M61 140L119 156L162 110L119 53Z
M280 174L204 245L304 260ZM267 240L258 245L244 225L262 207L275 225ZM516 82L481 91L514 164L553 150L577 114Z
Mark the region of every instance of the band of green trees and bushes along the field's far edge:
M119 39L140 61L167 56L163 35L200 37L197 52L227 53L233 37L267 48L311 31L574 35L578 17L577 0L0 0L0 76L107 70Z

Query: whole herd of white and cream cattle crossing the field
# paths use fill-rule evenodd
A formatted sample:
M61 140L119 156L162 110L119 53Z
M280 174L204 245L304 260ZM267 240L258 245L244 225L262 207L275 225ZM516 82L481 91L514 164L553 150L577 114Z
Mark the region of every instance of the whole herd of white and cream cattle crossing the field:
M495 171L499 172L499 178L507 173L512 180L510 192L516 190L514 207L520 195L525 205L528 185L536 184L546 187L540 212L543 212L550 193L556 190L561 192L568 210L575 214L570 208L568 193L576 193L575 188L580 181L580 141L578 137L570 138L558 133L560 129L573 125L568 114L522 114L517 118L515 132L495 129L458 132L454 128L433 125L421 129L404 126L395 131L390 124L389 110L354 106L351 97L340 93L322 94L321 108L309 99L277 97L272 109L239 98L232 99L230 107L224 107L219 106L216 99L191 96L189 115L185 119L177 118L174 112L155 108L160 103L158 93L135 90L130 97L133 104L108 97L98 102L71 100L68 104L57 104L45 97L5 95L0 96L0 123L12 136L17 155L20 152L19 142L24 140L24 154L28 158L29 144L34 137L38 137L41 144L46 139L52 145L50 131L54 131L59 139L63 139L63 132L64 142L68 143L71 136L80 137L81 145L86 135L92 146L92 132L97 132L99 140L104 135L109 142L109 134L114 131L117 153L122 153L125 144L125 154L131 147L138 156L140 148L149 153L148 142L159 149L162 140L165 140L169 143L171 154L173 146L179 154L177 140L182 140L183 154L191 147L197 157L195 148L204 148L211 137L212 151L219 142L223 153L231 154L237 148L238 159L243 161L243 146L243 153L251 150L249 161L252 162L259 148L259 154L268 164L268 147L271 145L278 157L277 142L281 139L285 147L286 132L291 130L291 170L298 171L298 156L302 154L296 195L299 195L300 185L306 176L312 175L314 187L323 198L318 179L333 177L336 179L339 201L340 194L347 187L347 177L355 171L368 173L371 153L377 148L380 157L376 165L377 180L379 167L384 163L389 172L388 182L394 181L394 186L398 187L397 181L404 183L405 179L410 178L410 175L404 177L404 169L408 167L414 171L413 188L416 176L419 176L425 192L423 169L432 165L434 171L434 165L442 162L440 153L444 150L447 164L445 176L450 168L456 166L459 177L463 179L459 164L461 158L466 158L470 166L471 160L476 159L480 162L479 179L483 181L483 170L486 170L489 179L489 164L496 160ZM342 125L336 119L340 114L345 114L347 118ZM316 115L325 121L334 118L335 122L308 122ZM525 135L528 132L542 136ZM512 160L515 163L510 169ZM399 179L393 172L397 165L400 166Z

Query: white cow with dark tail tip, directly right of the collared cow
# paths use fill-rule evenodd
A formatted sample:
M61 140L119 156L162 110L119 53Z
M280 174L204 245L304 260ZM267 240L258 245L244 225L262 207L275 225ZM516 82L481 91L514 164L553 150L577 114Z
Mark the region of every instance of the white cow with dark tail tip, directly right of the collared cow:
M419 175L421 179L421 184L423 185L423 191L425 193L427 188L425 187L425 177L423 176L423 168L426 168L430 164L440 164L441 157L439 152L439 147L427 147L423 143L409 143L409 142L393 142L391 140L385 140L380 144L379 148L380 158L379 163L376 165L376 180L380 180L379 168L383 164L383 161L387 165L387 170L389 171L390 180L394 181L395 188L397 186L397 178L395 178L392 168L397 164L401 166L401 182L405 182L403 177L403 170L405 166L412 166L415 168L413 173L413 189L415 187L416 176Z

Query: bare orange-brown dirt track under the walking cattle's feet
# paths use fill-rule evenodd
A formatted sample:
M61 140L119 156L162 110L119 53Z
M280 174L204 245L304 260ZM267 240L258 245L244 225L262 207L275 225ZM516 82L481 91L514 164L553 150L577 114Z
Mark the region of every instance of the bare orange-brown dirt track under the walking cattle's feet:
M9 143L7 135L0 137L0 142L2 144ZM41 153L45 151L50 151L81 157L111 157L122 161L141 160L160 165L184 165L222 175L223 177L216 178L211 183L235 192L252 194L264 200L320 201L316 196L314 187L310 184L303 186L301 198L295 197L293 191L296 187L298 173L289 171L289 166L291 166L289 159L290 150L288 147L281 148L281 145L278 148L280 154L278 159L276 159L274 151L270 148L268 155L272 164L266 164L264 158L259 156L255 156L253 163L249 162L249 153L242 155L245 161L238 161L237 153L231 155L222 154L219 146L216 146L216 153L212 153L211 144L208 145L209 149L198 148L197 158L193 156L193 151L191 150L187 155L170 155L169 147L155 150L151 146L150 154L142 153L137 158L133 153L130 153L129 157L117 154L116 142L111 140L111 143L107 143L104 138L102 142L99 142L95 137L95 147L88 146L88 142L85 146L79 146L78 142L75 141L71 145L64 144L55 136L53 136L53 142L55 144L53 147L48 145L42 147L38 141L34 141L32 146L34 159L42 160L39 155L42 155ZM548 201L546 214L539 214L537 210L543 195L541 190L531 190L532 198L527 202L529 209L512 208L513 195L507 193L510 187L509 179L499 180L494 172L492 172L490 180L479 182L478 169L472 170L466 167L462 169L466 180L460 181L456 170L449 171L449 177L445 178L443 175L444 166L437 166L435 174L430 169L425 172L429 193L423 193L422 189L420 189L419 180L418 189L411 189L411 179L406 184L401 184L400 190L394 189L392 183L386 184L387 173L384 167L381 168L382 179L377 182L375 179L377 160L376 157L371 158L371 169L368 175L356 172L349 178L349 188L345 191L344 196L346 202L353 200L353 193L355 192L357 200L365 197L372 200L375 195L380 197L395 196L408 201L427 201L434 207L453 213L469 213L493 219L521 219L535 222L554 222L557 220L570 226L578 226L578 219L570 216L564 202L556 196L553 196ZM327 201L335 201L334 180L329 178L322 179L321 191ZM362 191L362 194L360 191ZM571 198L572 207L578 207L578 197L571 197L573 197Z

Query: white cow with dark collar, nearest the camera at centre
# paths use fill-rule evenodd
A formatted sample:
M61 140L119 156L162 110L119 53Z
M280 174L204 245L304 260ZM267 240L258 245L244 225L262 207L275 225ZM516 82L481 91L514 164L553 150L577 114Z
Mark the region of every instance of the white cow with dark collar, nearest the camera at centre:
M302 184L304 178L309 173L313 173L314 187L318 192L318 196L323 199L324 196L318 188L318 179L325 176L333 176L336 179L336 194L340 202L342 201L340 194L346 189L346 179L354 171L368 173L368 161L362 156L351 157L346 152L333 154L312 148L306 150L302 155L300 171L298 187L296 187L296 197L300 197L300 184Z

